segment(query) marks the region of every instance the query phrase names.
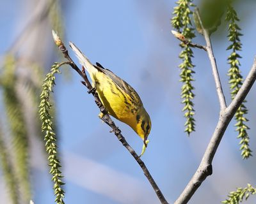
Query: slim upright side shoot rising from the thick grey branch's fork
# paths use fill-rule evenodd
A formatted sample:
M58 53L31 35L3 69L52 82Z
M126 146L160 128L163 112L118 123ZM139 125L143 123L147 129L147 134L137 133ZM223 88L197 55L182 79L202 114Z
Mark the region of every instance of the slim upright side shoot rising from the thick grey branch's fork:
M204 38L205 38L205 42L206 42L206 50L207 50L207 54L209 57L209 60L211 62L211 66L212 66L212 74L214 77L214 81L215 81L215 85L216 85L216 89L217 89L217 94L218 94L218 98L220 101L220 110L224 111L225 108L227 108L226 105L226 100L225 100L225 96L223 94L223 90L222 90L222 86L221 86L221 81L220 81L220 75L218 72L218 68L217 68L217 64L216 64L216 60L212 51L212 44L211 44L211 39L210 39L210 35L209 32L207 31L207 29L204 29L204 25L202 23L202 20L200 18L200 14L198 9L195 9L195 15L196 17L198 17L198 22L200 23L200 26L202 27L202 31L204 34Z

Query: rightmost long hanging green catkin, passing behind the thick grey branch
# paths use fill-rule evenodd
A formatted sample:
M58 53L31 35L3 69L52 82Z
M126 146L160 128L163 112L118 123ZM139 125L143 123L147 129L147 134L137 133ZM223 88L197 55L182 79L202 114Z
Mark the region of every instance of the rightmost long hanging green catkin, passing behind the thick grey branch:
M228 1L227 6L227 16L226 21L229 23L228 25L228 41L231 44L228 46L227 50L232 50L232 53L228 57L228 64L230 64L230 69L228 70L229 76L229 84L231 90L231 97L234 99L237 92L239 91L241 85L243 84L243 77L241 75L241 71L239 66L241 65L239 62L239 58L241 56L237 53L241 50L242 44L240 42L239 36L242 34L239 32L241 29L237 25L239 18L237 17L237 13L232 8L232 1ZM246 126L246 122L248 119L244 115L248 112L246 106L244 105L246 101L244 100L241 106L238 108L235 118L236 118L236 131L239 133L237 138L240 138L239 145L241 145L240 150L243 159L248 159L248 157L252 156L252 150L249 147L249 136L247 130L249 129Z

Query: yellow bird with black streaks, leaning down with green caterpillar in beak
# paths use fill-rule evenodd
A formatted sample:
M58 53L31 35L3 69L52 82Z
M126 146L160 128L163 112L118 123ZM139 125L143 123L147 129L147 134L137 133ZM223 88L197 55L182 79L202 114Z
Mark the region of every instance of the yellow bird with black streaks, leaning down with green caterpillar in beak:
M99 62L92 64L74 43L69 42L69 45L79 63L88 71L92 86L108 113L130 126L143 140L141 155L144 154L149 142L147 138L151 130L151 120L138 93L125 80L104 68ZM99 117L102 117L102 113Z

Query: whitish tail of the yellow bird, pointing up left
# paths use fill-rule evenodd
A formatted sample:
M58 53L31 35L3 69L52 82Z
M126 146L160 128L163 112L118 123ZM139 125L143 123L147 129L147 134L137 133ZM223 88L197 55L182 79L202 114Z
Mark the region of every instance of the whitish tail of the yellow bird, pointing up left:
M76 47L76 45L72 42L69 42L70 47L75 52L77 58L79 59L79 63L84 66L84 68L88 71L90 76L92 77L92 74L97 71L97 69L93 66L92 62L86 57L86 55L79 50L79 48Z

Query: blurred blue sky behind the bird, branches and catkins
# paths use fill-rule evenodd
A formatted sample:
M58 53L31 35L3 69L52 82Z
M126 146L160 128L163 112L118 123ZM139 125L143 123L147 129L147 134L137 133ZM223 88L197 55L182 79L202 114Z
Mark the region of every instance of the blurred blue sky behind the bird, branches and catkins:
M11 2L11 1L10 1ZM1 55L12 45L26 19L24 4L13 0L1 6ZM100 62L124 78L140 94L152 120L150 143L142 159L157 184L172 203L195 173L207 143L218 122L219 103L207 55L195 50L196 133L184 133L178 58L179 42L170 31L173 1L72 1L65 2L65 43L76 43L92 62ZM255 55L256 24L253 1L241 5L238 15L244 36L242 73L247 75ZM22 9L18 9L18 8ZM3 9L4 8L4 9ZM7 22L8 21L8 22ZM51 27L45 27L51 32ZM50 36L50 35L49 35ZM51 38L51 36L45 38ZM223 89L228 103L227 31L212 35ZM44 36L40 36L44 38ZM49 39L49 50L53 41ZM195 42L205 44L198 35ZM54 53L51 51L50 53ZM71 53L76 60L74 54ZM49 57L47 64L61 61ZM67 68L63 68L67 69ZM97 117L99 110L92 96L86 93L79 75L71 71L72 80L59 76L55 97L60 136L60 154L65 175L66 203L157 203L157 197L138 164L122 147L109 127ZM252 150L255 154L255 87L248 95L248 118L252 128ZM213 161L213 175L207 178L190 203L219 203L229 191L255 184L255 157L243 161L240 156L234 121L225 133ZM116 121L132 147L140 152L142 142L129 126ZM43 151L43 150L42 150ZM37 158L37 157L35 157ZM50 177L44 157L33 161L35 203L52 203ZM135 189L135 190L134 190ZM1 194L1 192L0 192ZM1 201L2 196L0 196ZM120 199L123 198L123 199ZM250 200L250 202L255 199Z

